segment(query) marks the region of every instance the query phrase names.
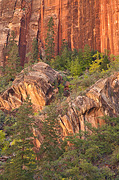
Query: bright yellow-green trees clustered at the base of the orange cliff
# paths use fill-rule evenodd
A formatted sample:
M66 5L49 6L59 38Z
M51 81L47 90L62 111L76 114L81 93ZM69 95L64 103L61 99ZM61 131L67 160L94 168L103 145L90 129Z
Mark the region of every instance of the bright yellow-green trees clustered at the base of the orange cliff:
M51 66L58 70L68 70L73 76L80 76L86 68L89 68L93 60L93 53L88 45L84 50L76 49L71 51L65 41L62 42L60 55L51 60Z

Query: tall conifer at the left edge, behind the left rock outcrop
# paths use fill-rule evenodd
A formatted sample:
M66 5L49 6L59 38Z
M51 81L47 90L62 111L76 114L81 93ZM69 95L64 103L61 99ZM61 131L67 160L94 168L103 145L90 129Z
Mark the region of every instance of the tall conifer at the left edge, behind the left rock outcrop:
M15 41L15 33L11 32L8 44L4 48L4 56L6 57L6 62L4 67L1 67L2 76L0 77L0 92L8 88L15 76L21 71L22 67L20 65L20 57L18 52L18 45Z

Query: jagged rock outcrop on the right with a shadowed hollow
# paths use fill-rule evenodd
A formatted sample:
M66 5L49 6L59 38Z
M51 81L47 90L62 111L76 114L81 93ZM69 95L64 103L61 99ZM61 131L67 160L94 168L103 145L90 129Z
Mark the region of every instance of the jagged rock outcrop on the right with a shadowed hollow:
M119 73L100 79L87 90L86 96L78 96L73 102L69 99L69 108L62 116L64 136L85 130L85 122L93 127L104 124L104 115L119 116Z

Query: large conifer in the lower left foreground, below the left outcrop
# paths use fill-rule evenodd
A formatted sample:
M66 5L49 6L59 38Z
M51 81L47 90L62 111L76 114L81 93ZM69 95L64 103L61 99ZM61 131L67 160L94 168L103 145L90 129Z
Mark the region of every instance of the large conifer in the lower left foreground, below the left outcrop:
M29 99L20 106L16 119L12 142L6 150L9 159L4 167L3 179L33 180L36 156L33 151L34 118Z

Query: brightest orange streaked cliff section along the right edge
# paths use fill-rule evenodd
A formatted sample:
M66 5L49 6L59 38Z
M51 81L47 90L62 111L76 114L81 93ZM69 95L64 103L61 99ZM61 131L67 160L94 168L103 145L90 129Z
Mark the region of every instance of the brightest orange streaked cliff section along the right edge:
M101 0L101 51L119 55L119 0Z

